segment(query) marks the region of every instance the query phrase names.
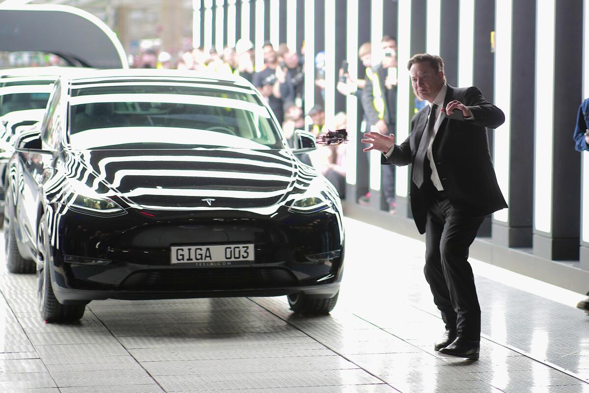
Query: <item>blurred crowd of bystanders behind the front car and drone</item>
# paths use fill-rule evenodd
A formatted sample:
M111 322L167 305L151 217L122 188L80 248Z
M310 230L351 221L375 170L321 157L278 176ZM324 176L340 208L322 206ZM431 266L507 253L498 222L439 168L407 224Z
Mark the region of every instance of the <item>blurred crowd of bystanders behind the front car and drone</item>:
M195 48L184 51L174 60L166 52L157 54L155 51L145 51L135 57L133 67L137 68L177 68L179 70L210 71L220 74L234 74L246 78L258 89L267 101L276 119L282 124L287 141L293 146L295 130L307 131L319 136L328 130L325 124L325 110L321 103L313 106L307 113L305 108L303 88L305 84L304 45L297 51L286 44L277 48L270 42L264 43L264 64L256 69L255 49L252 42L240 39L235 47L226 47L222 52L214 49L205 51ZM356 95L362 103L362 129L357 133L371 129L380 133L395 133L396 108L396 39L385 35L380 45L382 56L373 64L372 47L366 42L359 47L358 55L362 62L359 78L356 80L349 75L348 70L341 68L337 91L343 95ZM325 97L325 54L320 52L315 57L315 86L322 97ZM355 125L348 127L346 113L335 115L330 130L340 128L355 129ZM355 137L355 136L352 136ZM302 157L307 164L313 165L323 173L336 187L340 196L345 197L345 156L346 145L322 146ZM383 194L386 209L395 211L395 172L389 167L383 170ZM368 187L362 191L359 202L370 202Z

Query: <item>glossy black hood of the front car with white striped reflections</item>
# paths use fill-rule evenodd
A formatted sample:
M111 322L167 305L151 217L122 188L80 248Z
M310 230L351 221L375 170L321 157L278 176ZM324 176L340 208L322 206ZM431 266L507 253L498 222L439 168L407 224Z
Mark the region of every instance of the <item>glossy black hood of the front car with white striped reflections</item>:
M145 209L251 209L304 191L289 150L88 150L73 152L123 200ZM72 168L72 166L69 166ZM80 174L80 171L76 171ZM306 168L305 172L309 172ZM308 174L306 175L308 177Z

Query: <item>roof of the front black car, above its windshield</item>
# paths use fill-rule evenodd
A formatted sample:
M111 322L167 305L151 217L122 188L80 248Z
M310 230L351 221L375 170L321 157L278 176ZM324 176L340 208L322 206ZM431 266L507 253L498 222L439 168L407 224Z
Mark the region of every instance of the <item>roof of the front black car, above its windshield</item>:
M66 74L62 80L69 80L72 84L84 84L87 82L124 82L127 80L177 80L194 82L220 82L221 84L239 85L253 88L245 78L232 74L217 74L207 71L194 70L157 70L148 68L120 69L120 70L94 70L79 74Z

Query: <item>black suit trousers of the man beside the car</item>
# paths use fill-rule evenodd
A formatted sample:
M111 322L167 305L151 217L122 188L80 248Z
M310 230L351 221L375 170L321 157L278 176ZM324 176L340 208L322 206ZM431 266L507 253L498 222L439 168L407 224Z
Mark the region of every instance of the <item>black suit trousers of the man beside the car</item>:
M468 249L484 216L458 212L444 191L428 194L431 197L425 227L425 278L446 329L455 329L465 339L479 341L481 308Z

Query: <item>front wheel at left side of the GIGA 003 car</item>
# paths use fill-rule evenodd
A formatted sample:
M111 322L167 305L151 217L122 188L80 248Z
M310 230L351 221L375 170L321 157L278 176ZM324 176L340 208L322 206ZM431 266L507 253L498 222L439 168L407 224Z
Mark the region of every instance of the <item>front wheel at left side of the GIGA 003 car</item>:
M86 305L61 304L55 298L51 286L51 272L49 272L49 244L47 228L45 227L45 215L37 229L37 298L39 300L39 312L46 322L77 322L86 310Z

